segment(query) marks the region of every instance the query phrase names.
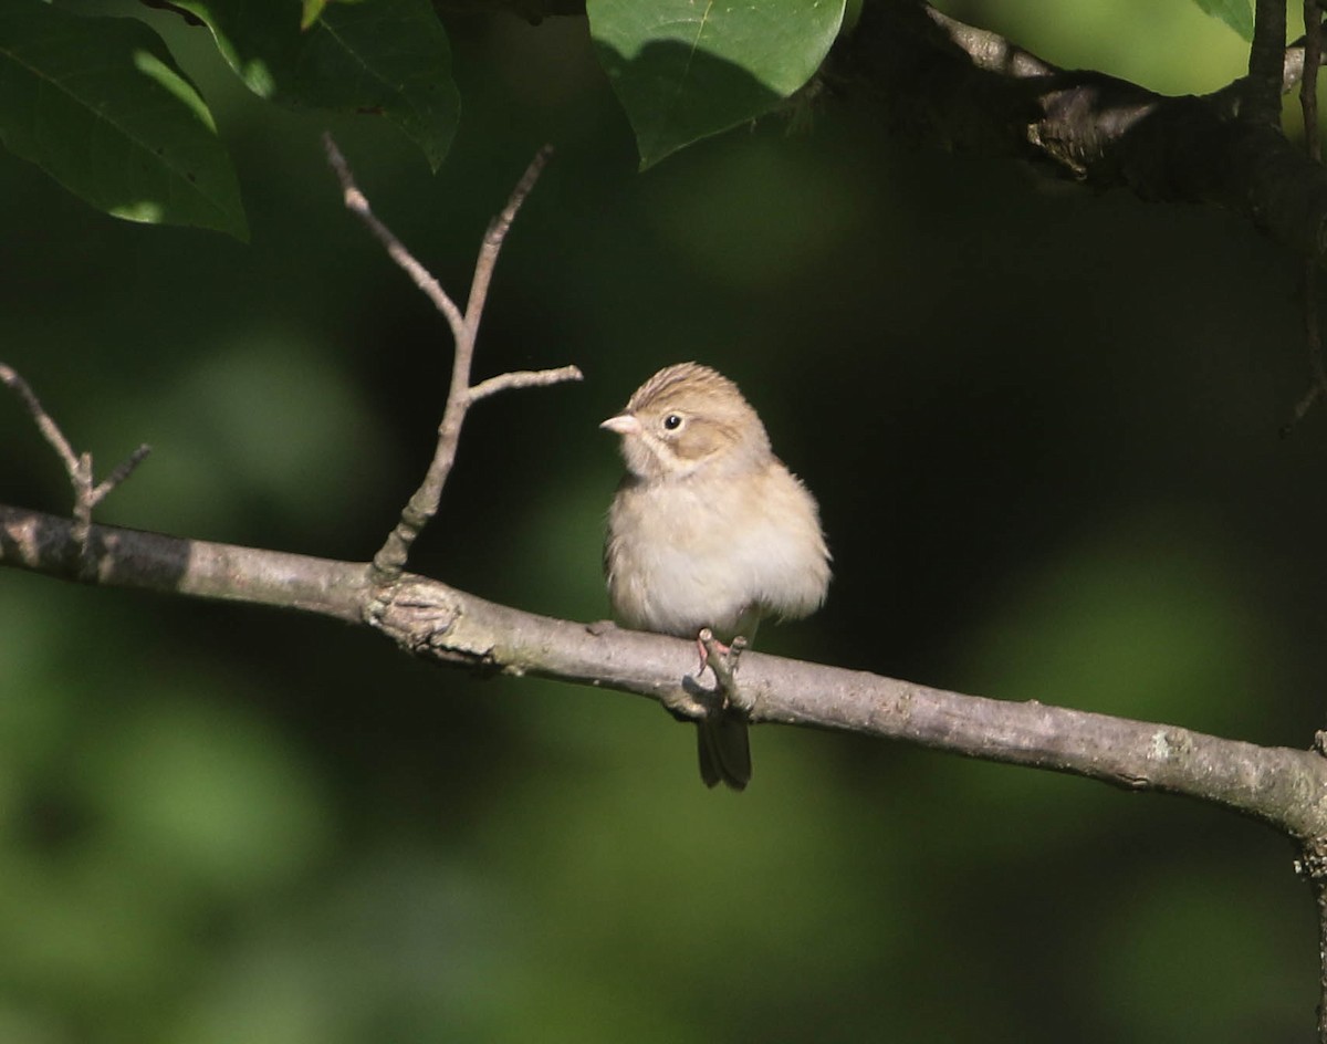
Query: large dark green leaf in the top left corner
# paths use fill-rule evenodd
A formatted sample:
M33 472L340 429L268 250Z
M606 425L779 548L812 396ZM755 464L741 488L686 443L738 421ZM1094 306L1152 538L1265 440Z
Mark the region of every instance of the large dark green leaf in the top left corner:
M165 44L131 19L9 0L0 141L117 218L248 237L211 113Z

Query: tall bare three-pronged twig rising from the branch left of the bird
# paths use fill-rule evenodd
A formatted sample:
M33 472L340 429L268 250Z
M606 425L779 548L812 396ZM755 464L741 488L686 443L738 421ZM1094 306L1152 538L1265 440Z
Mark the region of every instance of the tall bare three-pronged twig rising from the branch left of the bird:
M322 145L326 149L328 163L336 171L345 195L345 206L369 227L369 231L386 248L391 257L410 276L414 284L433 301L434 306L446 317L451 328L451 337L455 344L455 354L451 363L451 387L447 391L447 405L442 414L442 423L438 426L438 444L434 450L433 462L425 472L423 482L415 489L409 503L401 512L401 520L393 528L378 553L373 556L373 584L382 592L376 609L370 610L370 618L381 613L386 592L401 578L410 547L429 524L429 520L438 513L438 504L442 500L442 487L451 474L451 467L456 459L456 443L460 440L460 426L466 419L466 411L480 399L512 387L541 387L559 383L561 381L580 381L581 371L575 366L561 366L555 370L533 370L506 373L499 377L490 377L478 385L470 383L470 369L475 357L475 341L479 336L479 322L483 318L484 302L488 298L488 287L492 281L494 267L498 264L498 255L502 251L503 240L511 228L516 214L520 211L525 196L535 187L540 171L548 162L552 149L544 146L535 154L525 174L512 190L507 206L488 224L484 233L483 245L475 260L475 275L470 284L470 298L466 301L466 310L462 312L451 296L442 288L442 284L405 248L399 239L373 214L368 198L360 191L350 174L350 166L341 155L330 134L322 135Z

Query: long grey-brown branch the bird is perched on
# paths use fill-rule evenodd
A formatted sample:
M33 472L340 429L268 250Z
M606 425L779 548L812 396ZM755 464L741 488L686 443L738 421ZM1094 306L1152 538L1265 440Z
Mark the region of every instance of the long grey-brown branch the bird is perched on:
M275 605L382 630L439 663L535 674L698 708L695 643L576 623L484 601L406 574L384 608L366 562L93 527L92 582ZM0 507L0 565L72 577L68 520ZM373 612L370 613L370 606ZM816 726L916 743L1212 801L1300 841L1327 836L1327 760L1165 724L967 696L782 657L746 653L751 720Z

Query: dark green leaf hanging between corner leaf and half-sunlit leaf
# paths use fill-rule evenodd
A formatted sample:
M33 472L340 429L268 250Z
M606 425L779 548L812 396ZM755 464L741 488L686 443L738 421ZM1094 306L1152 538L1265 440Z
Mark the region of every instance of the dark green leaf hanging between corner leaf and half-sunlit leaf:
M289 109L373 113L437 170L460 119L447 33L429 0L326 4L301 31L301 0L178 0L207 23L255 94Z

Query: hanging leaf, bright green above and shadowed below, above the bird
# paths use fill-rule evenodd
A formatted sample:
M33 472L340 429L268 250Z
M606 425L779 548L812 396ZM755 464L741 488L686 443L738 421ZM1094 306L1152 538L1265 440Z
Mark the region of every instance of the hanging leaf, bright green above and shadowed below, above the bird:
M844 0L587 0L641 168L768 113L820 68Z

